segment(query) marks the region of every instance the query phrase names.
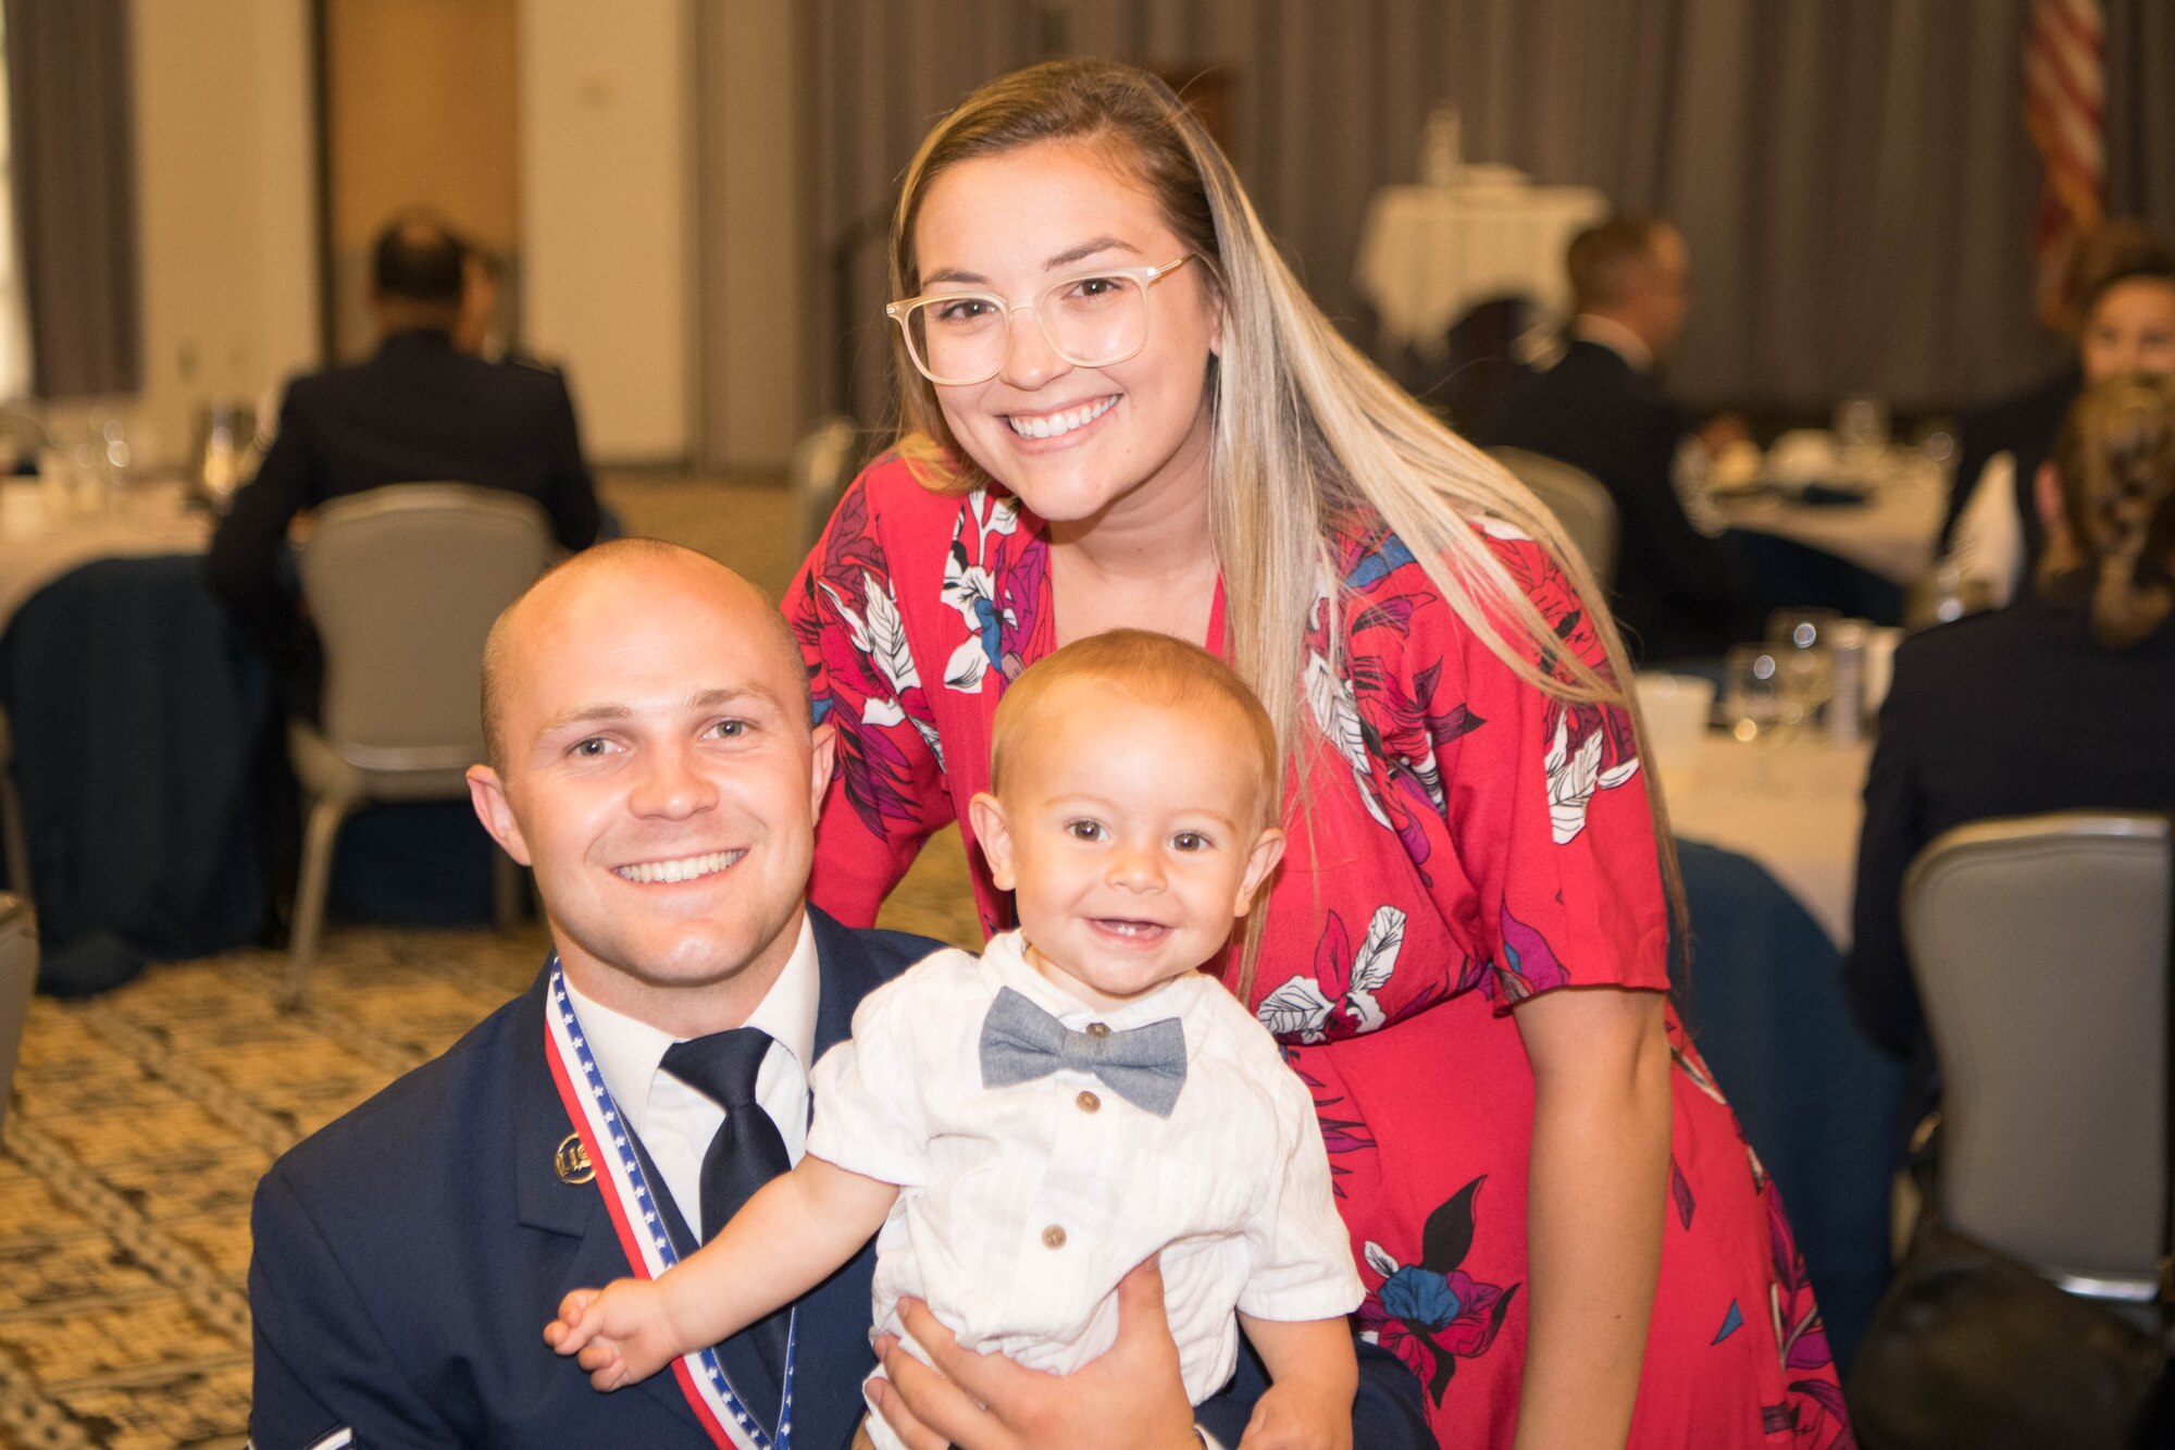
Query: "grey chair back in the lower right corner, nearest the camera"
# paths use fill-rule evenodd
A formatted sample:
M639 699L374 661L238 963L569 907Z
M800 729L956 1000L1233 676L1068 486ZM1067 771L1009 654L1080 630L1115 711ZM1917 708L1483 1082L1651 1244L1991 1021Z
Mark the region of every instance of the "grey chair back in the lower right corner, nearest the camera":
M2147 1302L2164 1232L2168 821L1938 836L1903 941L1942 1071L1942 1221L2064 1289Z

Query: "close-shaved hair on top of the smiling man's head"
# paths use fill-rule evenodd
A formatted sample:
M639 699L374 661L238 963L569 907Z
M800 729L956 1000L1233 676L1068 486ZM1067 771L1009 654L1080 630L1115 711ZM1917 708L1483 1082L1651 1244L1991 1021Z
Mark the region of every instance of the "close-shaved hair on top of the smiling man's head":
M548 651L539 655L535 644L548 644L570 612L609 607L616 597L624 599L626 592L644 586L685 588L746 612L748 644L774 653L776 662L800 681L798 695L787 703L803 727L813 723L800 644L794 640L792 625L763 599L759 588L707 553L655 538L620 538L583 549L548 568L492 625L492 634L483 642L483 747L494 771L505 775L509 764L505 718L513 673L550 668ZM629 620L626 627L639 627L639 623Z

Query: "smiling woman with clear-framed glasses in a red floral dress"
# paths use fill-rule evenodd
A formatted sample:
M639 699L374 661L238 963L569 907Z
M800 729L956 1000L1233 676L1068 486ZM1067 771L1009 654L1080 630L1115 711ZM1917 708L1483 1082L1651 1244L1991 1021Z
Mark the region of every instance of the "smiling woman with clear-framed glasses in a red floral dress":
M970 96L892 268L907 435L785 605L837 732L813 899L874 919L1051 649L1218 649L1292 755L1227 982L1314 1091L1362 1328L1442 1443L1849 1446L1781 1202L1666 1004L1623 647L1546 514L1338 340L1144 72Z

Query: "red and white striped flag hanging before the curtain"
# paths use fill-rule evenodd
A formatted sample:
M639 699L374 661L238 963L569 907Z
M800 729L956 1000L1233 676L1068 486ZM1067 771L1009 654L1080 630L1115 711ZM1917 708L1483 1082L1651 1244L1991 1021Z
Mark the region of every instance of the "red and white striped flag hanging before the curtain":
M2105 17L2099 0L2031 0L2025 35L2025 131L2047 168L2031 255L2038 311L2055 322L2077 239L2099 226L2108 179Z

